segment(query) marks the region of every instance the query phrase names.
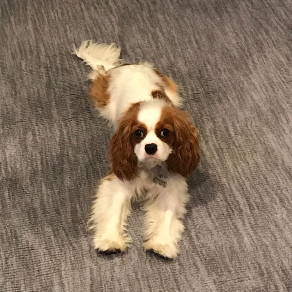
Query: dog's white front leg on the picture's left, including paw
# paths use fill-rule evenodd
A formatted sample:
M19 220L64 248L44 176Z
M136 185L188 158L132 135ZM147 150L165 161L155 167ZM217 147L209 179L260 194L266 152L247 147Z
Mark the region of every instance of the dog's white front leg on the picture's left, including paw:
M131 238L125 228L133 195L133 184L118 179L114 174L101 181L89 219L90 229L94 231L95 249L108 253L127 249Z

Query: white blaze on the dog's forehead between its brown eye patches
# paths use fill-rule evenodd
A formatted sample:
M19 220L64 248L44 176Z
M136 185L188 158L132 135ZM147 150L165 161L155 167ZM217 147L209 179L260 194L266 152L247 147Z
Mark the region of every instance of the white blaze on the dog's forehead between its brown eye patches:
M161 99L154 99L149 102L141 103L138 121L144 123L148 131L154 130L155 125L160 120L163 106L165 106L165 101Z

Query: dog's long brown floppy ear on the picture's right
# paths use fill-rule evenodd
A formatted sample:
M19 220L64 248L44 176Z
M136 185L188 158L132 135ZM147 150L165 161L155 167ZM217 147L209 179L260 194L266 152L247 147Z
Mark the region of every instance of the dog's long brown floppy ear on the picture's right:
M175 141L166 163L169 171L187 177L200 162L199 130L180 110L173 116L173 121Z

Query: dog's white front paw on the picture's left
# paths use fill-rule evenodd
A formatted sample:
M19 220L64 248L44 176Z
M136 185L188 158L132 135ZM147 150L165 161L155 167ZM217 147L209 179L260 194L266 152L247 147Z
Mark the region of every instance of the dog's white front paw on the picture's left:
M94 237L93 246L99 252L106 254L123 252L128 247L129 238L125 235L116 235L111 237Z

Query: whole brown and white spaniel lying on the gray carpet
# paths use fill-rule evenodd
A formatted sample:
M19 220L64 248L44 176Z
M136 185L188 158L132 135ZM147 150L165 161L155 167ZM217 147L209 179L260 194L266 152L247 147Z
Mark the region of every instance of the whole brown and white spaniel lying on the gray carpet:
M144 202L146 251L174 259L189 199L187 178L200 162L199 131L179 109L176 83L147 61L126 64L114 43L84 41L75 54L92 67L89 98L115 130L112 172L99 183L89 219L100 252L131 242L131 201Z

